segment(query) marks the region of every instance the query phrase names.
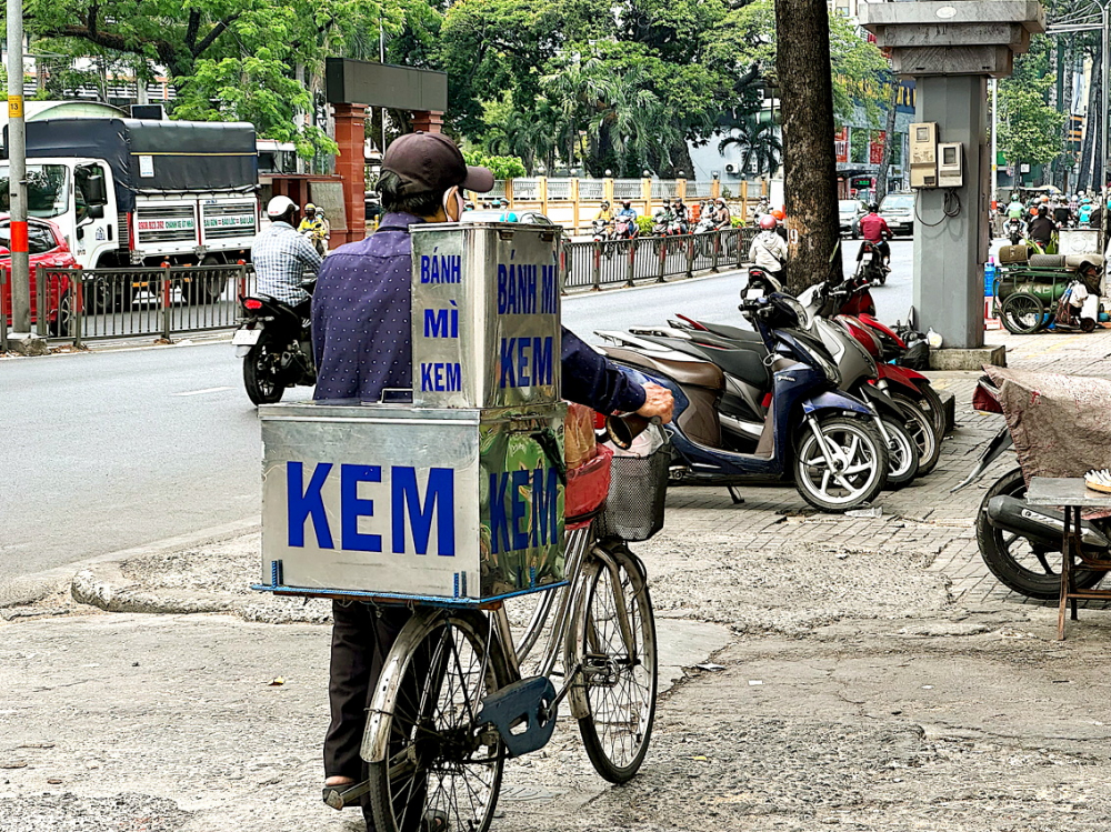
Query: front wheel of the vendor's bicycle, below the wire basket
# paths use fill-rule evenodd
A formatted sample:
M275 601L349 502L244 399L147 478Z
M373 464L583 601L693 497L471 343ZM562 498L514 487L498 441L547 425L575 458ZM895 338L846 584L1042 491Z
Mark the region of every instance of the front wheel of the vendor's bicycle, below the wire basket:
M582 673L571 712L594 770L624 783L644 762L655 719L652 600L643 567L624 544L595 548L579 585L567 666Z

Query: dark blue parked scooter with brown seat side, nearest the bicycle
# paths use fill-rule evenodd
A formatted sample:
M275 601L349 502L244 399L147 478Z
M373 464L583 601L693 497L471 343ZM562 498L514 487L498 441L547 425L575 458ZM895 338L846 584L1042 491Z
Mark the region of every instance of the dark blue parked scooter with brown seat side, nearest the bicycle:
M837 367L798 332L807 311L781 293L742 307L768 348L768 363L752 350L722 350L729 354L710 361L628 333L598 333L613 361L672 391L672 481L734 485L793 475L802 498L821 511L842 512L873 500L887 483L887 445L872 409L838 390ZM758 400L757 389L769 392ZM730 422L728 413L721 418L723 401L727 411L748 409L748 431L722 430Z

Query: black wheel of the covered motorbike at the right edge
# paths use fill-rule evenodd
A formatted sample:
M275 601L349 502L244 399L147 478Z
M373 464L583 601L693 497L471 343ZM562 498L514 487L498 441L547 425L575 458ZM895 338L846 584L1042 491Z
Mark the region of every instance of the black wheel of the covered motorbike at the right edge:
M1000 583L1027 598L1052 601L1061 597L1061 552L1034 547L1021 534L997 529L988 522L988 501L1003 494L1022 499L1027 483L1022 469L1015 468L1000 477L988 489L975 517L975 541L980 557ZM1073 578L1078 589L1091 589L1105 573L1078 569Z

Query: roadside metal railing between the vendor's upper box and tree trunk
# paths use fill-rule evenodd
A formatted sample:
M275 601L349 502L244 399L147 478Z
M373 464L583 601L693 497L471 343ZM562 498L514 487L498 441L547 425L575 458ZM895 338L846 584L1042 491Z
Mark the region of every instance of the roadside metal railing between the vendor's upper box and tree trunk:
M563 290L634 285L647 280L662 283L668 278L737 269L748 257L753 234L753 229L730 228L701 234L567 243Z

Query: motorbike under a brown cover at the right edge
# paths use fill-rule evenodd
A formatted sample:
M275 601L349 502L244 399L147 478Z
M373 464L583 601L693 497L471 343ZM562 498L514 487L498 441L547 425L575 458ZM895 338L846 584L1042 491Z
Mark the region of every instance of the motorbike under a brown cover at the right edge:
M1002 413L999 389L983 377L972 394L972 408L981 413ZM953 491L968 488L1012 445L1004 423L984 448L972 472ZM1021 468L1012 468L992 484L980 501L975 518L975 539L980 557L999 581L1010 590L1040 600L1053 600L1061 593L1061 530L1064 512L1028 505L1025 479ZM1083 548L1111 559L1111 523L1108 519L1084 520ZM1091 589L1107 573L1078 569L1072 572L1078 589Z

